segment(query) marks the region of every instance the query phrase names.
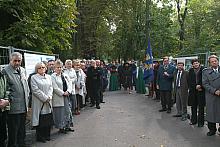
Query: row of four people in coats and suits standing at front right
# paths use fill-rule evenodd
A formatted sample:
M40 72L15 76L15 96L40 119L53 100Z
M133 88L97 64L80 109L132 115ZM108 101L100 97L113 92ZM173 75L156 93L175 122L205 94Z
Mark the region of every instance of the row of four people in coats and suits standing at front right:
M216 123L220 123L220 68L216 55L211 55L208 61L210 66L205 68L198 59L193 59L192 68L186 71L183 62L178 62L175 68L169 64L169 58L164 57L157 71L156 84L162 105L159 112L171 113L176 103L177 113L173 117L181 117L182 121L189 118L190 125L198 127L203 127L206 120L207 136L213 136L217 131ZM191 116L187 106L191 107Z

